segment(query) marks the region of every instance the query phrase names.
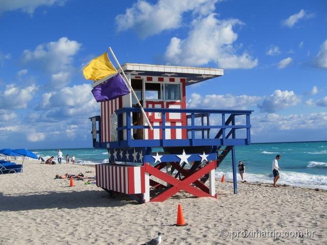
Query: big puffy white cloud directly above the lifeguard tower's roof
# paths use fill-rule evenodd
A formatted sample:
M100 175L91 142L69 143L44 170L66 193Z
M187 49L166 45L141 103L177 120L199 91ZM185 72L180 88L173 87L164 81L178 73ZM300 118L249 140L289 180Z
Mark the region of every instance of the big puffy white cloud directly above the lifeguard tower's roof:
M218 20L215 14L194 21L186 39L173 37L165 58L168 64L204 65L219 61L222 68L253 68L258 59L247 52L237 55L232 43L238 34L232 28L243 23L238 19Z

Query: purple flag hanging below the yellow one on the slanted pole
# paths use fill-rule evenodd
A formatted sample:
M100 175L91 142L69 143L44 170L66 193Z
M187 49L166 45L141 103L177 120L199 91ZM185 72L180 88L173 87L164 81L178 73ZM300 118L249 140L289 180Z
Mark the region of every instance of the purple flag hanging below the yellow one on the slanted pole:
M119 73L92 89L97 102L113 100L128 93L129 89Z

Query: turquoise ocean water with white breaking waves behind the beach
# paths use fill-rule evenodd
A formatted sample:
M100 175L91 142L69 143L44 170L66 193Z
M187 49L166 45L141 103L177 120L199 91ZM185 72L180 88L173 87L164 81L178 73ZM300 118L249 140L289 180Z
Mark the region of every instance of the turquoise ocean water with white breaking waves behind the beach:
M159 150L159 149L158 149ZM105 149L61 149L63 156L75 155L78 164L98 164L108 162ZM44 159L54 156L58 149L33 150ZM281 171L279 184L305 186L327 189L327 141L324 142L292 142L292 143L256 143L236 146L236 159L245 164L245 179L249 182L272 183L272 160L279 154ZM231 153L216 170L217 178L224 174L232 179ZM65 161L63 159L63 161ZM240 176L238 174L238 180Z

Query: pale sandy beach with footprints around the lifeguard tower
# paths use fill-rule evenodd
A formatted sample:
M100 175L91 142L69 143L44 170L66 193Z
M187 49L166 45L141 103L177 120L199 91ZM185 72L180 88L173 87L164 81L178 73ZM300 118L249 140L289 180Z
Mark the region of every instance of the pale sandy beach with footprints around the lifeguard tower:
M24 173L0 175L1 244L142 244L157 232L165 233L162 244L327 242L327 191L239 183L234 195L232 183L217 181L218 199L179 192L163 203L138 205L126 196L112 199L85 181L68 187L68 180L54 179L65 173L95 176L94 167L24 165ZM186 227L173 226L178 204ZM270 237L253 237L256 231Z

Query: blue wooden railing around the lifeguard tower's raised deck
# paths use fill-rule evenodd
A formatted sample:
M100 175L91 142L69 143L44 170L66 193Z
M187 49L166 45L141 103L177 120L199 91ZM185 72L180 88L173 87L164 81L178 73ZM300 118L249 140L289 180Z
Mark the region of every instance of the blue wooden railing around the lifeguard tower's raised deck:
M207 109L161 109L161 108L144 108L145 112L160 113L161 120L159 126L153 126L153 129L160 130L160 139L144 140L133 139L133 129L149 129L149 126L133 125L132 112L141 113L141 109L125 107L116 110L118 116L118 141L109 142L110 148L125 148L125 147L142 147L142 146L198 146L198 145L245 145L250 143L250 114L251 110L207 110ZM125 114L124 114L125 113ZM180 118L186 118L187 125L185 126L167 126L167 113L180 113ZM217 122L217 118L211 120L212 115L221 115L221 124ZM226 115L229 115L227 119ZM125 117L126 126L123 126L123 116ZM245 116L245 124L236 125L239 116ZM96 118L96 117L93 117ZM91 118L92 120L92 118ZM97 120L100 120L97 116ZM93 122L95 119L93 119ZM151 119L150 119L151 121ZM190 121L190 124L189 124ZM219 120L220 121L220 120ZM215 122L215 124L214 124ZM124 123L125 124L125 123ZM200 124L200 125L197 125ZM96 125L95 123L92 124ZM188 132L186 139L166 139L167 129L182 129ZM236 132L240 129L245 129L245 137L237 138ZM123 139L123 131L126 131L126 139ZM215 136L211 136L211 131L218 131ZM96 130L92 127L92 132L100 134L101 130ZM199 133L197 133L199 132ZM231 136L231 137L230 137ZM96 140L97 141L97 140ZM99 140L100 141L100 140ZM94 146L107 148L107 142L95 142Z

